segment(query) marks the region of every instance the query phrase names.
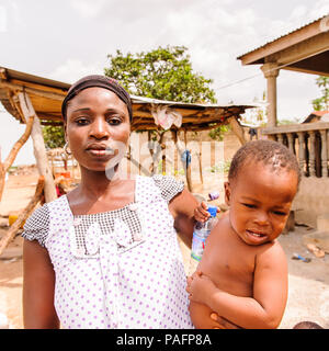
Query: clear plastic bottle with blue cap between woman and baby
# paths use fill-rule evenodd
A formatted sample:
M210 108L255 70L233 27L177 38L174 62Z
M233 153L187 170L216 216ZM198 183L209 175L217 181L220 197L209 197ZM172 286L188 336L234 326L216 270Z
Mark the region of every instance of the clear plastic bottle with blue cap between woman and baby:
M217 222L217 207L208 206L207 212L211 214L211 217L204 223L196 222L194 226L189 275L195 272L205 248L206 238Z

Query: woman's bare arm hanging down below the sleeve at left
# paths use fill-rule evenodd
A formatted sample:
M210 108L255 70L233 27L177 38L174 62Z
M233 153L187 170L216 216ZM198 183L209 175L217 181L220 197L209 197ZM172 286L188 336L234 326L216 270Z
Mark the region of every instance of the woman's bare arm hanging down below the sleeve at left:
M23 245L23 319L25 329L58 329L54 307L55 272L36 240Z

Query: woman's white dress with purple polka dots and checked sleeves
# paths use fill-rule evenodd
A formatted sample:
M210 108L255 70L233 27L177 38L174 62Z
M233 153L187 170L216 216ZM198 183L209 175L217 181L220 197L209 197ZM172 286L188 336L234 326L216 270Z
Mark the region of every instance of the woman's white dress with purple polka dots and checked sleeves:
M64 195L27 219L23 237L45 246L55 269L63 328L193 328L168 210L182 188L172 177L137 177L135 201L123 208L73 216Z

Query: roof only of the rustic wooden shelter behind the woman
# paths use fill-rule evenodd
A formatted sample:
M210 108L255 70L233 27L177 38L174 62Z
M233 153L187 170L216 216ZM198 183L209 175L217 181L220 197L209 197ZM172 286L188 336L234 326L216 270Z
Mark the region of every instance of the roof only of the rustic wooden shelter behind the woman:
M43 125L61 125L61 101L70 84L43 77L0 67L0 101L4 109L21 123L25 123L16 92L25 91ZM182 115L181 128L186 131L209 129L228 123L231 116L239 118L247 109L256 105L217 105L180 103L132 95L132 131L157 129L152 111L158 106L174 109ZM174 127L173 127L174 128Z

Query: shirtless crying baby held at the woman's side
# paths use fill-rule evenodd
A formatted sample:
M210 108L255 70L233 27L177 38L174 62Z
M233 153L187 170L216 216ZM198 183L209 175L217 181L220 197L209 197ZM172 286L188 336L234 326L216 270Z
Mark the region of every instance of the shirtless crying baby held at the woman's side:
M287 299L287 263L276 238L299 180L295 155L280 143L249 141L236 152L224 184L229 211L188 279L195 328L218 328L212 312L240 328L279 327ZM196 219L206 216L201 206L196 212Z

